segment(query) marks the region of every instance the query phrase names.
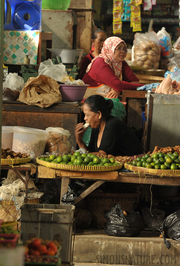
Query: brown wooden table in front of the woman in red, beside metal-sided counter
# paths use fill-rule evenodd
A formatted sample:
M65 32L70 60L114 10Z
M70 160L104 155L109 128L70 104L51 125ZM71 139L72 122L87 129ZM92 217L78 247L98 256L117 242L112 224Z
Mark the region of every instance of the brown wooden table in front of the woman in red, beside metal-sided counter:
M147 91L144 90L123 90L122 92L122 102L126 103L125 110L126 110L126 117L123 119L125 124L128 123L128 101L129 98L146 98Z

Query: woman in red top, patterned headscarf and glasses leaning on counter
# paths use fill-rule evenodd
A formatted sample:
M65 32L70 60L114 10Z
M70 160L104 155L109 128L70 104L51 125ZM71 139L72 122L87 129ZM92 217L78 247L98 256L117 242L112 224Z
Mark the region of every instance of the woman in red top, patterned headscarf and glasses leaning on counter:
M107 38L101 53L89 64L83 77L87 88L84 98L99 94L105 98L118 98L122 90L136 90L144 84L134 75L126 61L126 43L118 37Z

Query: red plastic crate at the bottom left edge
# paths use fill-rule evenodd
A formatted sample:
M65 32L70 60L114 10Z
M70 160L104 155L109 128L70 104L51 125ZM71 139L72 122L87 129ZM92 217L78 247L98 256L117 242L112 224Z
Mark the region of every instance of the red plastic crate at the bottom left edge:
M0 234L0 247L15 247L20 234Z

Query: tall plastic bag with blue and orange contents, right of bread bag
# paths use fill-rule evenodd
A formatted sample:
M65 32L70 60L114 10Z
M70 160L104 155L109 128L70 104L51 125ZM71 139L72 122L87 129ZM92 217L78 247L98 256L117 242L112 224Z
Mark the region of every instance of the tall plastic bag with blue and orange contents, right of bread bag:
M161 57L163 58L172 57L171 36L165 30L165 27L162 27L162 29L157 32L157 39L159 41L159 46L161 48Z

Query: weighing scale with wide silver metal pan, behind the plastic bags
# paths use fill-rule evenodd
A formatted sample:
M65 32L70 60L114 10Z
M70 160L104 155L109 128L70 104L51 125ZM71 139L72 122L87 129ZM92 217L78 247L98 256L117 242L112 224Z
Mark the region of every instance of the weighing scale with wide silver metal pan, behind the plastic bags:
M48 49L57 57L57 62L62 63L66 67L68 76L73 77L75 80L78 76L78 64L80 63L84 50L72 49Z

